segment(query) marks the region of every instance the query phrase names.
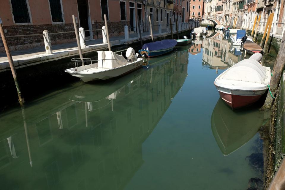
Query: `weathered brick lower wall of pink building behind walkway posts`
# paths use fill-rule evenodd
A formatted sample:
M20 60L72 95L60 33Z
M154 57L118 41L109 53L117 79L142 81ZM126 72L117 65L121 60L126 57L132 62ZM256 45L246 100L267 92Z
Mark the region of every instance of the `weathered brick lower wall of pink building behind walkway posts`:
M109 37L124 35L124 26L130 26L128 21L121 22L108 22ZM105 26L105 22L98 22L92 24L92 29L102 29ZM78 26L77 26L78 27ZM42 34L44 30L48 30L50 33L54 32L66 32L74 31L73 24L50 24L50 25L16 25L16 26L4 26L7 30L6 36L25 35L25 34ZM98 32L98 37L97 37ZM101 31L93 31L94 39L102 38ZM62 44L69 42L76 42L75 33L64 34L51 34L50 39L52 45ZM26 36L26 37L7 37L7 42L11 51L30 49L33 47L44 46L44 39L42 35L38 36ZM0 52L5 52L3 43L0 38Z

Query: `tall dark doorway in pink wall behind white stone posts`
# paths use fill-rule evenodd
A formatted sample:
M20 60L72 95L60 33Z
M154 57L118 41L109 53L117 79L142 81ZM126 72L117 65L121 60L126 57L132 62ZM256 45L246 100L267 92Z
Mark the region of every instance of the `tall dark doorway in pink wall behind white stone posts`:
M87 0L77 0L80 27L89 30ZM90 32L85 32L85 36L90 36Z

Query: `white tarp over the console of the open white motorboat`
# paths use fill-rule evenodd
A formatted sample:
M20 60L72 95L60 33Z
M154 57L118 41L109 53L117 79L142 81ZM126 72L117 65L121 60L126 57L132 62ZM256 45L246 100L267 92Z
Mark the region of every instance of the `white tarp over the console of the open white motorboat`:
M97 51L98 52L98 68L110 69L127 64L124 56L113 53L113 51ZM102 64L103 63L103 64Z

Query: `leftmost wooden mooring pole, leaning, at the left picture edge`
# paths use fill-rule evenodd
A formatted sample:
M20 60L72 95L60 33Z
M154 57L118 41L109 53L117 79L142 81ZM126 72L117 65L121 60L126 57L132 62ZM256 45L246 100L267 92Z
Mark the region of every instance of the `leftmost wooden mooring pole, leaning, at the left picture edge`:
M20 104L22 104L24 102L24 99L22 98L22 95L21 95L20 86L19 86L19 83L18 83L18 80L17 80L17 72L16 72L16 69L15 69L14 64L13 64L14 63L13 62L13 58L12 58L11 53L10 53L10 49L9 49L9 46L8 46L8 43L7 43L7 39L6 39L6 36L5 36L5 32L4 32L4 29L3 29L1 18L0 18L0 34L1 34L2 42L3 42L4 48L5 48L5 51L6 51L6 54L7 54L9 65L10 65L10 68L11 68L11 71L12 71L12 75L13 75L13 78L14 78L16 89L17 89L17 92L18 92L19 102L20 102Z

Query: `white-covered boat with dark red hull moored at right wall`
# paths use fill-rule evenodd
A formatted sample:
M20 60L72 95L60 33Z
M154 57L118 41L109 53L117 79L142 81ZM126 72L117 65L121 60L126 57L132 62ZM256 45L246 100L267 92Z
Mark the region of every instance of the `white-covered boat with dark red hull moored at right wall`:
M259 63L261 58L262 55L256 53L230 67L215 79L214 85L221 98L233 110L257 102L267 92L271 71L269 67Z

